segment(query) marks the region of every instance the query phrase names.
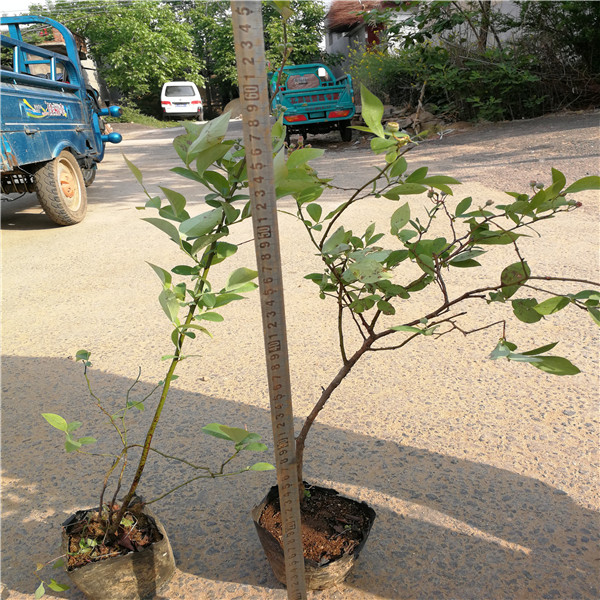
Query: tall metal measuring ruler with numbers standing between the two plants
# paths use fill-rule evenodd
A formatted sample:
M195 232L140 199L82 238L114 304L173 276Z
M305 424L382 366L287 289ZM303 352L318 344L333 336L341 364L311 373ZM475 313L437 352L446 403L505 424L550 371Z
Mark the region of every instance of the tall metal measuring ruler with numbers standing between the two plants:
M254 248L262 310L288 598L306 599L304 551L261 2L232 0Z

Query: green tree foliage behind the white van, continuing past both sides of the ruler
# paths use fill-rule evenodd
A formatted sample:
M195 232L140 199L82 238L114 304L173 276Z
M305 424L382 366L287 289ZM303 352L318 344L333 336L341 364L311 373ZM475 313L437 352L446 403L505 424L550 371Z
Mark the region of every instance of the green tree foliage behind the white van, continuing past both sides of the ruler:
M323 0L293 0L287 36L289 62L322 60ZM90 54L107 85L149 110L158 106L165 81L184 79L206 86L208 105L237 96L237 69L228 0L56 0L34 5L36 13L60 21L87 38ZM263 5L267 59L279 63L282 24L272 3Z

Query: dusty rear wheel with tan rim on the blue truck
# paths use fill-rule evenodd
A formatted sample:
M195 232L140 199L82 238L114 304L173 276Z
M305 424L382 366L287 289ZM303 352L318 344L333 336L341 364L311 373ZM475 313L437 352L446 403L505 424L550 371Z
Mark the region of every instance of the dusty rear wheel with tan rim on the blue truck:
M58 225L75 225L85 217L87 193L79 163L63 150L35 173L37 197L44 212Z

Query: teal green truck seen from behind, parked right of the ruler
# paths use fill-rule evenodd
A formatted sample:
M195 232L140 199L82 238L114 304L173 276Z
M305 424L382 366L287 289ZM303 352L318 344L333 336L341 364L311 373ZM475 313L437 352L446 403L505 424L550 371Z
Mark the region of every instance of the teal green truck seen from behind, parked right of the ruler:
M352 78L333 76L329 67L312 63L290 65L270 76L271 110L283 110L287 135L339 131L342 141L352 139L350 121L356 112Z

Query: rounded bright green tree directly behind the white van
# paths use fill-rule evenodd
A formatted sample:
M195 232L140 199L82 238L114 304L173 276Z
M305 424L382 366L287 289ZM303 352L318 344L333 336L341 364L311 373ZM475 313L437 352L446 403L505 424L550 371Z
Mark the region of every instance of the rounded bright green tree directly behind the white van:
M144 105L155 102L165 81L202 84L188 22L168 4L152 0L58 0L31 10L60 21L88 40L107 85Z

